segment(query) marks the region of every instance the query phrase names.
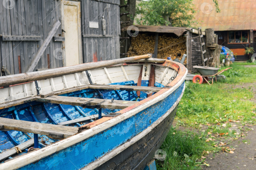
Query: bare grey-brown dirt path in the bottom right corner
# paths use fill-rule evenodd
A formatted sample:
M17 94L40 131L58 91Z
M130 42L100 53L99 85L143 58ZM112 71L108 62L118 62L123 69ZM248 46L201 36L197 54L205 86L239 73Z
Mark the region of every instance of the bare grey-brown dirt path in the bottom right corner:
M203 167L205 170L235 170L235 169L256 169L256 126L250 127L254 130L250 130L247 133L246 139L238 139L226 146L235 148L233 154L227 152L218 152L214 158L210 159L210 155L207 156L207 163L209 167ZM242 141L247 141L244 143Z

